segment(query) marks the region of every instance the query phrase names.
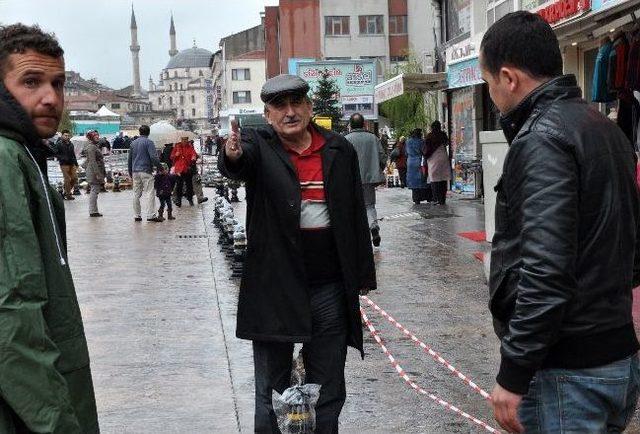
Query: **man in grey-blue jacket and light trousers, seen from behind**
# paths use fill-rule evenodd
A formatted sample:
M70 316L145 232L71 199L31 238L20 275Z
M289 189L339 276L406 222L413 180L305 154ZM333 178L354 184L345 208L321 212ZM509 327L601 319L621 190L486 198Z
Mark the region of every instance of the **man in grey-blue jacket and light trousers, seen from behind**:
M161 221L156 215L156 197L153 189L153 169L160 167L156 145L149 139L151 132L148 125L138 130L140 137L131 143L129 150L129 176L133 180L133 214L134 221L142 221L140 198L144 196L147 208L147 221Z

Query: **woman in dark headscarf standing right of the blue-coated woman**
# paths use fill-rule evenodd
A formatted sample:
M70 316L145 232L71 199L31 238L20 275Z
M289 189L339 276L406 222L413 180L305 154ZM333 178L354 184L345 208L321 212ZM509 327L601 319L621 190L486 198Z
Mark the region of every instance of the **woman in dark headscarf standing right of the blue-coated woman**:
M442 131L440 121L434 121L425 138L422 156L427 163L427 182L431 186L433 201L439 205L444 205L447 201L447 183L451 180L448 145L449 138Z

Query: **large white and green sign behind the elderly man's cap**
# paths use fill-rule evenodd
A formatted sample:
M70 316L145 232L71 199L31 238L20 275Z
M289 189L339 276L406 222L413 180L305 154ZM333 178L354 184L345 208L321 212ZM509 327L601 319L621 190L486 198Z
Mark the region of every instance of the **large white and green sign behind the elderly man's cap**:
M367 119L373 119L376 112L373 106L374 88L376 85L376 64L372 60L345 60L323 62L299 62L297 75L309 83L310 94L313 94L324 71L338 85L342 102L342 110L347 113L359 111ZM351 97L361 97L349 100ZM366 97L366 98L362 98Z

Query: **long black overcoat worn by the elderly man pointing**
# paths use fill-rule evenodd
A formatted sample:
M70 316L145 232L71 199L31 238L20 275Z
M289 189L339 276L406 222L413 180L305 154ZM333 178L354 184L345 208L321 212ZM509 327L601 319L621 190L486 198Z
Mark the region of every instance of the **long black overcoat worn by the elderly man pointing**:
M348 344L362 353L358 291L375 289L371 236L362 198L358 156L342 136L313 125L322 149L325 196L335 236L349 316ZM296 169L271 127L245 128L239 161L224 155L224 176L247 190L247 256L236 335L241 339L307 342L311 310L300 231L301 192ZM363 353L362 353L363 354Z

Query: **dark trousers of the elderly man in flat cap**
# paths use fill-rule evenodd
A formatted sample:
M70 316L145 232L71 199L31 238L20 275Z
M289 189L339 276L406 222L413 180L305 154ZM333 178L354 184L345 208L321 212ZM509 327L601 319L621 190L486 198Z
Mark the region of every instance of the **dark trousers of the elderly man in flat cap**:
M316 405L316 433L337 433L346 399L344 364L347 357L347 307L342 283L310 289L313 336L302 357L306 382L322 385ZM293 343L253 342L256 409L255 432L278 433L272 391L291 384Z

